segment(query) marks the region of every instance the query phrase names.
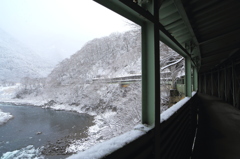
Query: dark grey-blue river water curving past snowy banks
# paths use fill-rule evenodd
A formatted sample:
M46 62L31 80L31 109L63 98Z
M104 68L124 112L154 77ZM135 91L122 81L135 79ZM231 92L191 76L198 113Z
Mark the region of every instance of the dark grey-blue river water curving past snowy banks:
M87 128L93 124L93 117L75 112L13 105L0 105L0 109L14 116L0 126L0 156L28 145L35 148L50 145L46 158L65 158L51 150L53 145L58 151L65 149L69 139L87 137Z

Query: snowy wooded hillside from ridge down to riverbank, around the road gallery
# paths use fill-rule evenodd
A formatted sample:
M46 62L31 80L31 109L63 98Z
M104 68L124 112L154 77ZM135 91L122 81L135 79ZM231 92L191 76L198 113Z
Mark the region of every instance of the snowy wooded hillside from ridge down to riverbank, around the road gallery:
M183 60L163 43L160 49L161 70L175 79L184 68ZM23 80L16 98L44 100L44 107L97 115L89 135L93 142L99 142L141 122L142 89L141 81L121 85L93 79L134 74L141 74L140 30L89 41L59 63L46 79Z

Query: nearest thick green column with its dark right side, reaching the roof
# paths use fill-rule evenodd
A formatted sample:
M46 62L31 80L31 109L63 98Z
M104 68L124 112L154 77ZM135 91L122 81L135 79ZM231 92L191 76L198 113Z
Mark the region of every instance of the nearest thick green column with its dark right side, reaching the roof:
M155 24L142 24L142 123L159 126L160 123L160 65L158 1L142 5L154 15Z

